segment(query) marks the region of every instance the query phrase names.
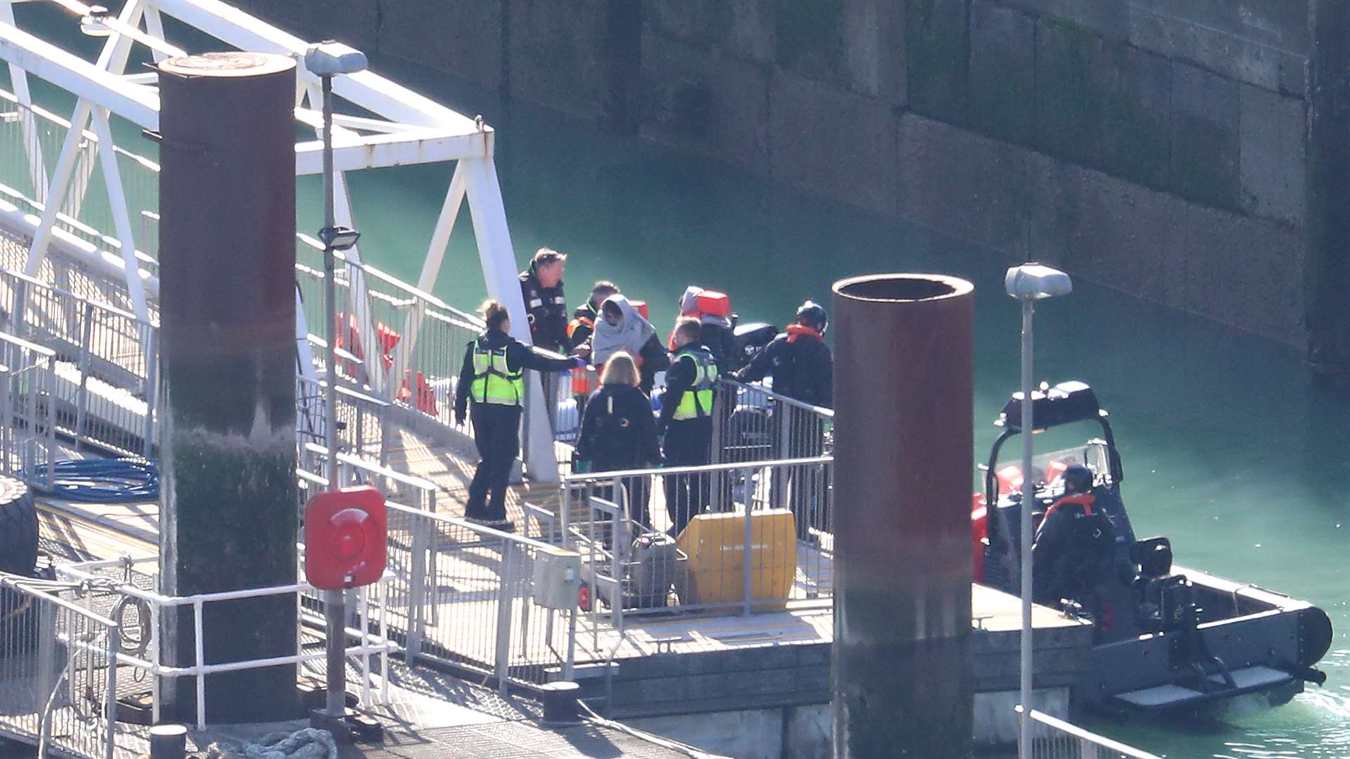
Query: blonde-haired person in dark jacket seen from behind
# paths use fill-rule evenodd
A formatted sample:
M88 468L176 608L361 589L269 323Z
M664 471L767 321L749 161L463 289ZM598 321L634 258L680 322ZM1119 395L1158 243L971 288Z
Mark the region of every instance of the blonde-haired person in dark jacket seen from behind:
M640 377L628 351L616 351L605 362L601 386L586 401L576 442L576 461L583 467L589 465L590 471L647 469L662 461L652 402L637 386ZM651 529L647 478L625 477L622 485L628 490L629 517Z

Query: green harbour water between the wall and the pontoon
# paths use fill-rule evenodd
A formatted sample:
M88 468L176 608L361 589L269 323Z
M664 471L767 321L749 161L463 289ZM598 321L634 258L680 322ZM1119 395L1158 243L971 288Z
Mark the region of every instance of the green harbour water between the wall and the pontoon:
M19 12L39 12L32 5ZM972 280L976 459L986 458L990 421L1018 381L1018 309L1002 294L1007 261L644 140L598 135L566 115L502 104L396 61L377 69L498 128L518 258L543 244L568 253L574 303L594 280L614 280L649 301L664 325L694 282L730 293L747 320L782 324L805 297L828 304L830 284L852 274ZM47 88L39 95L69 111L68 99ZM123 127L117 138L135 142L135 134ZM153 154L144 142L128 147ZM371 263L416 280L450 172L350 178ZM317 178L301 182L300 207L301 228L316 230ZM1311 600L1338 631L1322 663L1327 685L1287 706L1238 704L1203 721L1091 727L1170 758L1350 756L1350 398L1314 386L1284 347L1104 288L1076 288L1038 308L1037 375L1084 380L1112 412L1135 529L1170 536L1180 563ZM485 296L467 209L436 294L459 307Z

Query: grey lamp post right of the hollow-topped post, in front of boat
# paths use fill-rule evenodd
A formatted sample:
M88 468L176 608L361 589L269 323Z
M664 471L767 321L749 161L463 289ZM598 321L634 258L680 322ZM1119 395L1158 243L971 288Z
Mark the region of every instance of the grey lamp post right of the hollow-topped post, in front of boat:
M1027 262L1008 269L1003 286L1022 304L1022 650L1021 687L1022 720L1018 731L1018 756L1031 756L1031 505L1035 501L1035 478L1031 475L1031 435L1035 429L1031 412L1031 313L1038 300L1073 292L1069 276L1058 269Z

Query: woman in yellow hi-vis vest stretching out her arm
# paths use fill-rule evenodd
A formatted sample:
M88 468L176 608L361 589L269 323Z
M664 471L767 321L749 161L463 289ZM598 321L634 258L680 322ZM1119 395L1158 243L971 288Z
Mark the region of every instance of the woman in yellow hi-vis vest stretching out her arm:
M455 386L455 421L464 423L473 401L474 444L482 461L468 485L464 519L512 531L506 519L506 483L520 451L520 413L525 397L525 370L566 371L585 366L580 358L549 358L510 336L506 307L487 300L482 307L487 328L464 350Z

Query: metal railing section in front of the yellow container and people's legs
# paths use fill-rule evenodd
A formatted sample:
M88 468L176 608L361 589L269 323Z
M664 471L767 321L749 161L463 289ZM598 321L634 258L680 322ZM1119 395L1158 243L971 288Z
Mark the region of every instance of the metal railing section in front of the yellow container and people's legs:
M815 456L570 474L560 513L528 513L582 555L593 627L672 605L749 614L833 596L832 471Z

